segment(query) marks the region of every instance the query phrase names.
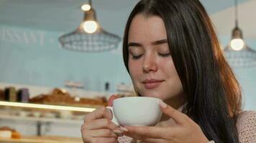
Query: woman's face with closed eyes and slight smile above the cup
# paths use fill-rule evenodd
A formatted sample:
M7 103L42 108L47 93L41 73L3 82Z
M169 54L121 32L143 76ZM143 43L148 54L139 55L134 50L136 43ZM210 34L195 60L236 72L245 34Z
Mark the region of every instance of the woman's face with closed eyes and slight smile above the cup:
M170 55L165 24L159 16L134 16L129 28L128 49L129 73L137 92L163 100L183 93Z

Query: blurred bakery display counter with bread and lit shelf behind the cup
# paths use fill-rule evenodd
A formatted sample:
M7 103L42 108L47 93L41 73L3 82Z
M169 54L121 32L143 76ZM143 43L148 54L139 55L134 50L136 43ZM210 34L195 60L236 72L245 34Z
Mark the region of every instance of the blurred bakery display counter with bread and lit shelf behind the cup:
M0 83L0 143L82 143L83 119L107 105L111 96L107 89L93 92ZM132 87L124 84L116 89L117 97L135 96Z

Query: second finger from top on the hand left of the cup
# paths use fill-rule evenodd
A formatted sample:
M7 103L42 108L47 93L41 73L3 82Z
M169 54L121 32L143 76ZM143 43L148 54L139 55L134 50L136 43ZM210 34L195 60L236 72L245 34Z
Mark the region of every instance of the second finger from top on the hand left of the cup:
M86 122L85 129L111 129L118 128L110 119L96 119L91 122Z

